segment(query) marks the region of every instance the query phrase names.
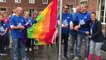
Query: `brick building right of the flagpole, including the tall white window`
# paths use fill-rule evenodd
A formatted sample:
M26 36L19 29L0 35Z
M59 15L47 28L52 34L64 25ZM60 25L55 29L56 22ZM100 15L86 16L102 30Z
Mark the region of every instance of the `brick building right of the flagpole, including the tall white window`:
M74 8L80 4L87 4L90 12L95 11L97 18L106 24L106 0L63 0L63 4L69 4L70 8Z

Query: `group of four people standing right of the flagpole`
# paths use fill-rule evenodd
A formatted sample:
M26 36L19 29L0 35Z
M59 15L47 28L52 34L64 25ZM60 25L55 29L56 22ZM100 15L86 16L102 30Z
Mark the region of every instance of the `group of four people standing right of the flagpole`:
M62 40L64 41L64 57L68 60L67 51L70 45L70 55L74 56L73 60L80 60L81 51L84 51L83 60L93 60L94 51L96 60L101 58L101 46L104 40L102 34L102 25L97 20L95 12L88 12L87 5L76 6L76 12L69 12L69 5L63 7L62 13ZM58 16L58 22L60 15ZM60 25L60 23L58 23ZM70 44L68 38L70 37ZM85 43L85 49L81 49L82 43Z

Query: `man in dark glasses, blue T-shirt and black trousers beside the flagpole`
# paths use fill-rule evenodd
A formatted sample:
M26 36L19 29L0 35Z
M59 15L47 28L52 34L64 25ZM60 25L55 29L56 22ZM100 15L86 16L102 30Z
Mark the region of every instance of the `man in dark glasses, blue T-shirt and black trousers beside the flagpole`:
M73 19L72 14L68 12L69 6L64 6L64 12L62 13L62 40L64 40L64 57L67 59L67 50L68 50L68 37L70 30L70 21ZM60 16L58 17L58 21Z

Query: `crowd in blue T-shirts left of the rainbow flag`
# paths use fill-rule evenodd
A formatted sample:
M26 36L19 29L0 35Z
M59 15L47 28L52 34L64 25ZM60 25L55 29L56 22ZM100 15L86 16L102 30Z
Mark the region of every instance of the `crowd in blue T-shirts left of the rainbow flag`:
M0 12L0 55L6 56L5 50L10 49L10 37L12 36L14 60L19 59L19 51L22 60L27 60L26 51L32 51L34 39L27 38L27 28L36 23L36 18L40 12L35 11L31 16L29 11L24 11L22 7L13 9L11 15L7 12Z

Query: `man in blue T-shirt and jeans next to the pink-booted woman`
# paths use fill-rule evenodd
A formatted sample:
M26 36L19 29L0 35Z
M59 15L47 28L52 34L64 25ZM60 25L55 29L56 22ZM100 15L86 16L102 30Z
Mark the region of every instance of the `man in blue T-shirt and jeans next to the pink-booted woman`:
M85 60L88 58L89 52L89 31L90 31L90 12L87 12L87 5L81 5L81 13L78 13L76 20L78 20L78 25L75 26L77 33L77 51L74 60L79 60L81 57L81 45L84 39L85 42Z

